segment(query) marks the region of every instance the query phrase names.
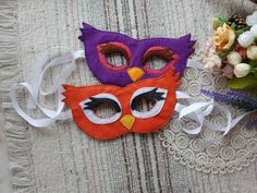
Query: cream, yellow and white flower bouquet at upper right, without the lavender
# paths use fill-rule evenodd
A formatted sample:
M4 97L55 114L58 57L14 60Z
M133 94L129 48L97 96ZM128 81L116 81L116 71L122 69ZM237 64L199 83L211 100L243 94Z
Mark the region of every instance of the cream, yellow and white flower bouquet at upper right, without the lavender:
M246 19L232 15L211 22L213 40L204 59L206 69L219 69L228 79L228 87L257 87L257 11Z

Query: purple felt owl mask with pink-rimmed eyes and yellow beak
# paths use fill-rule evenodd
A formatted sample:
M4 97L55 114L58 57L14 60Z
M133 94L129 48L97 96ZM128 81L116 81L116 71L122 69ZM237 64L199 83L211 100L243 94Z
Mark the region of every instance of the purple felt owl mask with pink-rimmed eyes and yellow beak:
M186 61L194 52L195 40L191 34L180 38L134 39L126 35L99 31L86 23L78 37L85 46L85 57L90 71L103 84L126 86L142 80L158 77L174 67L175 72L183 74ZM108 62L107 55L119 52L126 59L120 67ZM147 61L159 57L167 61L162 69L151 69Z

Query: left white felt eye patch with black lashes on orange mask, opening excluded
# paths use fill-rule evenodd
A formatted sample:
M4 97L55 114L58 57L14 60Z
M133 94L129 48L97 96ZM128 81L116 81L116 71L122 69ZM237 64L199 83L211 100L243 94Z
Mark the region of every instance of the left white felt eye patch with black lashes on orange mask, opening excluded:
M108 118L100 118L95 113L95 109L99 107L99 105L110 105L114 108L115 113ZM85 116L89 121L96 124L107 124L117 121L121 114L121 104L118 98L111 94L99 94L95 95L86 100L79 102L81 108L83 109Z

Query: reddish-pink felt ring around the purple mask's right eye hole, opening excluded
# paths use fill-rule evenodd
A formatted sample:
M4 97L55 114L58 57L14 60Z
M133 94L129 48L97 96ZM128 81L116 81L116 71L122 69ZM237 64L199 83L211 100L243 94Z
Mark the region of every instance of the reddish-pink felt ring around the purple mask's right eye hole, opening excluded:
M155 70L147 62L152 58L160 58L160 59L167 61L167 63L161 69ZM146 70L150 74L164 73L170 68L174 67L175 63L179 61L179 59L180 59L179 55L173 52L169 48L161 47L161 46L154 46L154 47L150 47L144 55L143 69Z

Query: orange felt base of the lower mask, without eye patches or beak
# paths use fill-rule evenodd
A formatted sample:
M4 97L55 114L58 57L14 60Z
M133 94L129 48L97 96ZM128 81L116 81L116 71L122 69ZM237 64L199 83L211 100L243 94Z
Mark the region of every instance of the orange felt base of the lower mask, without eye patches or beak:
M143 80L132 83L125 87L113 85L94 85L83 87L63 85L65 88L65 92L63 93L65 98L63 101L70 106L74 121L82 131L98 140L110 140L128 132L149 133L162 129L174 111L174 106L176 102L175 89L179 84L179 75L174 74L174 70L171 69L168 73L160 77ZM136 118L132 129L127 130L120 122L120 119L125 114L132 116L130 107L131 97L133 93L140 87L158 87L167 89L167 99L161 111L157 116L146 119ZM95 124L90 122L78 105L81 101L101 93L112 94L121 102L122 116L113 123Z

